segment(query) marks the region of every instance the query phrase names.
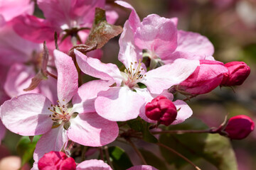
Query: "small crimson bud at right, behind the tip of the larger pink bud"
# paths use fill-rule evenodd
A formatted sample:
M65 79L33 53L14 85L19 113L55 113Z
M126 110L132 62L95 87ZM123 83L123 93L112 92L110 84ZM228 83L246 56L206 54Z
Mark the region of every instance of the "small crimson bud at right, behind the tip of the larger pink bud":
M250 67L245 62L228 62L225 67L228 68L228 72L223 75L220 86L241 85L250 74Z

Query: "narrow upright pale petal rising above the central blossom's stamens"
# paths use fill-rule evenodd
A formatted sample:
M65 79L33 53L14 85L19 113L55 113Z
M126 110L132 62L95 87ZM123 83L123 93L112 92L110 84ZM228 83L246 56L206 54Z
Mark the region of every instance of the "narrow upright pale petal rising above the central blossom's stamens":
M119 38L119 47L118 60L126 68L129 68L131 62L138 62L139 59L142 59L142 55L139 55L139 52L142 52L142 50L134 44L134 31L128 21L124 23L124 30Z

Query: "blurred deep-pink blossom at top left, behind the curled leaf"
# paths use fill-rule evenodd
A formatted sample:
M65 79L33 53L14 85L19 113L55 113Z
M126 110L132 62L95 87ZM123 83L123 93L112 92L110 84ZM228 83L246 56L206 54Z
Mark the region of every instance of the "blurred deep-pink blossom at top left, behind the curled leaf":
M23 15L14 21L14 30L21 37L33 42L46 40L54 48L54 33L60 35L78 35L85 42L95 17L95 8L105 7L105 0L38 0L38 7L46 19ZM118 16L114 11L107 12L107 20L115 22ZM71 36L59 41L61 51L68 52L73 46Z

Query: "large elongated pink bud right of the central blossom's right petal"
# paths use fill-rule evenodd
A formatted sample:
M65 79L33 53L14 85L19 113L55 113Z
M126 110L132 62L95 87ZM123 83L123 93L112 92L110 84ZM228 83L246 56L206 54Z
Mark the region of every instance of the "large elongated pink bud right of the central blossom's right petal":
M181 94L206 94L220 85L223 74L228 72L222 62L200 60L200 65L186 80L175 86Z

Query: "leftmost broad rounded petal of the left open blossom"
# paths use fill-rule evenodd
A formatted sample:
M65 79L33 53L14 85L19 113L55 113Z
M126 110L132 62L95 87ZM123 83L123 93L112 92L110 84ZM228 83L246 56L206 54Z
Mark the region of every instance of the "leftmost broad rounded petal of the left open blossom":
M41 135L53 125L48 110L51 102L41 94L23 94L4 102L1 106L1 120L11 132L18 135Z

